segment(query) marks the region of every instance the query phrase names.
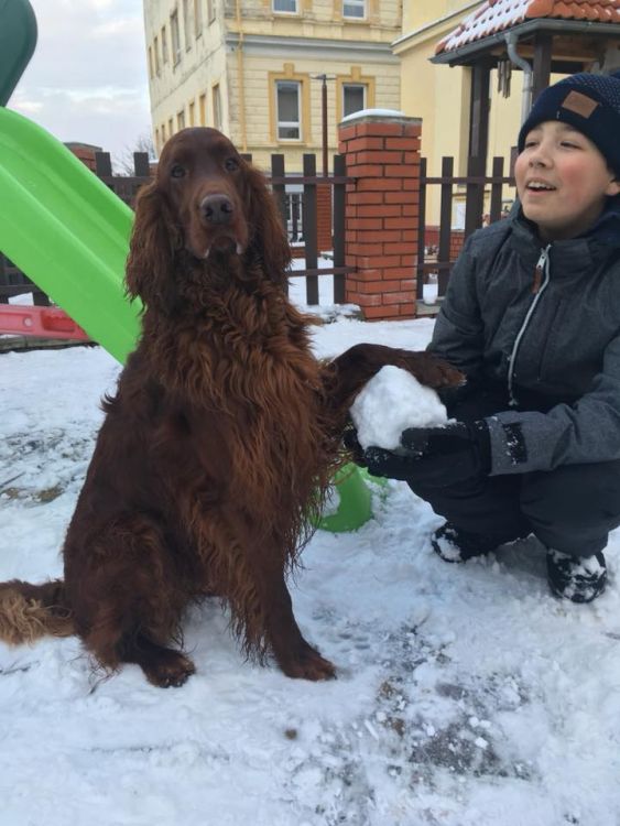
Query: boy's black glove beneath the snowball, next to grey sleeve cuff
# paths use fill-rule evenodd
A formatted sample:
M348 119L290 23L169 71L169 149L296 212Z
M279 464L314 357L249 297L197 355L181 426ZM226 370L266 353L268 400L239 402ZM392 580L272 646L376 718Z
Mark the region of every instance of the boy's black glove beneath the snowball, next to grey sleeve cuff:
M491 439L485 420L445 427L409 427L394 450L368 447L362 454L369 472L413 485L444 487L491 469Z

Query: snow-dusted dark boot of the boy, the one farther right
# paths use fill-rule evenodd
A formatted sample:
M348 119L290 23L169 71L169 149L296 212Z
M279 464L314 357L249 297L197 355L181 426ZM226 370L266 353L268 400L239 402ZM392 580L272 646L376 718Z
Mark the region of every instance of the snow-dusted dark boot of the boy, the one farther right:
M605 590L605 556L600 551L592 556L570 556L550 547L547 580L557 597L573 602L591 602Z

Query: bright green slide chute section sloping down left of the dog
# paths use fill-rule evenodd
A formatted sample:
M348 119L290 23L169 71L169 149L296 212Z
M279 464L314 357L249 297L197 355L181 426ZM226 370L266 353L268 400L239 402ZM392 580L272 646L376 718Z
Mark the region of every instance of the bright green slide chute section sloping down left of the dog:
M133 213L59 141L0 107L0 250L121 363L140 302L123 293Z

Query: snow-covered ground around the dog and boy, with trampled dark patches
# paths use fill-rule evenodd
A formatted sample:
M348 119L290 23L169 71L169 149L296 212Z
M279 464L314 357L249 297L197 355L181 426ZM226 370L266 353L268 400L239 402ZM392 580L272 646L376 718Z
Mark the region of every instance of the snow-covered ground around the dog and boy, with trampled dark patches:
M316 352L421 349L432 322L318 328ZM58 551L118 365L99 348L0 355L0 579ZM246 662L195 609L197 673L101 681L76 639L0 644L1 826L618 826L620 535L591 606L548 591L535 541L466 565L400 482L356 533L317 532L292 584L338 680Z

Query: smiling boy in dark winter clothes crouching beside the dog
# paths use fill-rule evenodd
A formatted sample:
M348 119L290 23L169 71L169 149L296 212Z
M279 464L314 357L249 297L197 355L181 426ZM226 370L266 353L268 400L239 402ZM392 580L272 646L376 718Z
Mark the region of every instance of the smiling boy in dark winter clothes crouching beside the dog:
M468 239L429 345L467 376L456 422L360 458L446 518L445 561L534 533L552 591L589 602L620 524L620 73L545 89L519 151L520 206Z

